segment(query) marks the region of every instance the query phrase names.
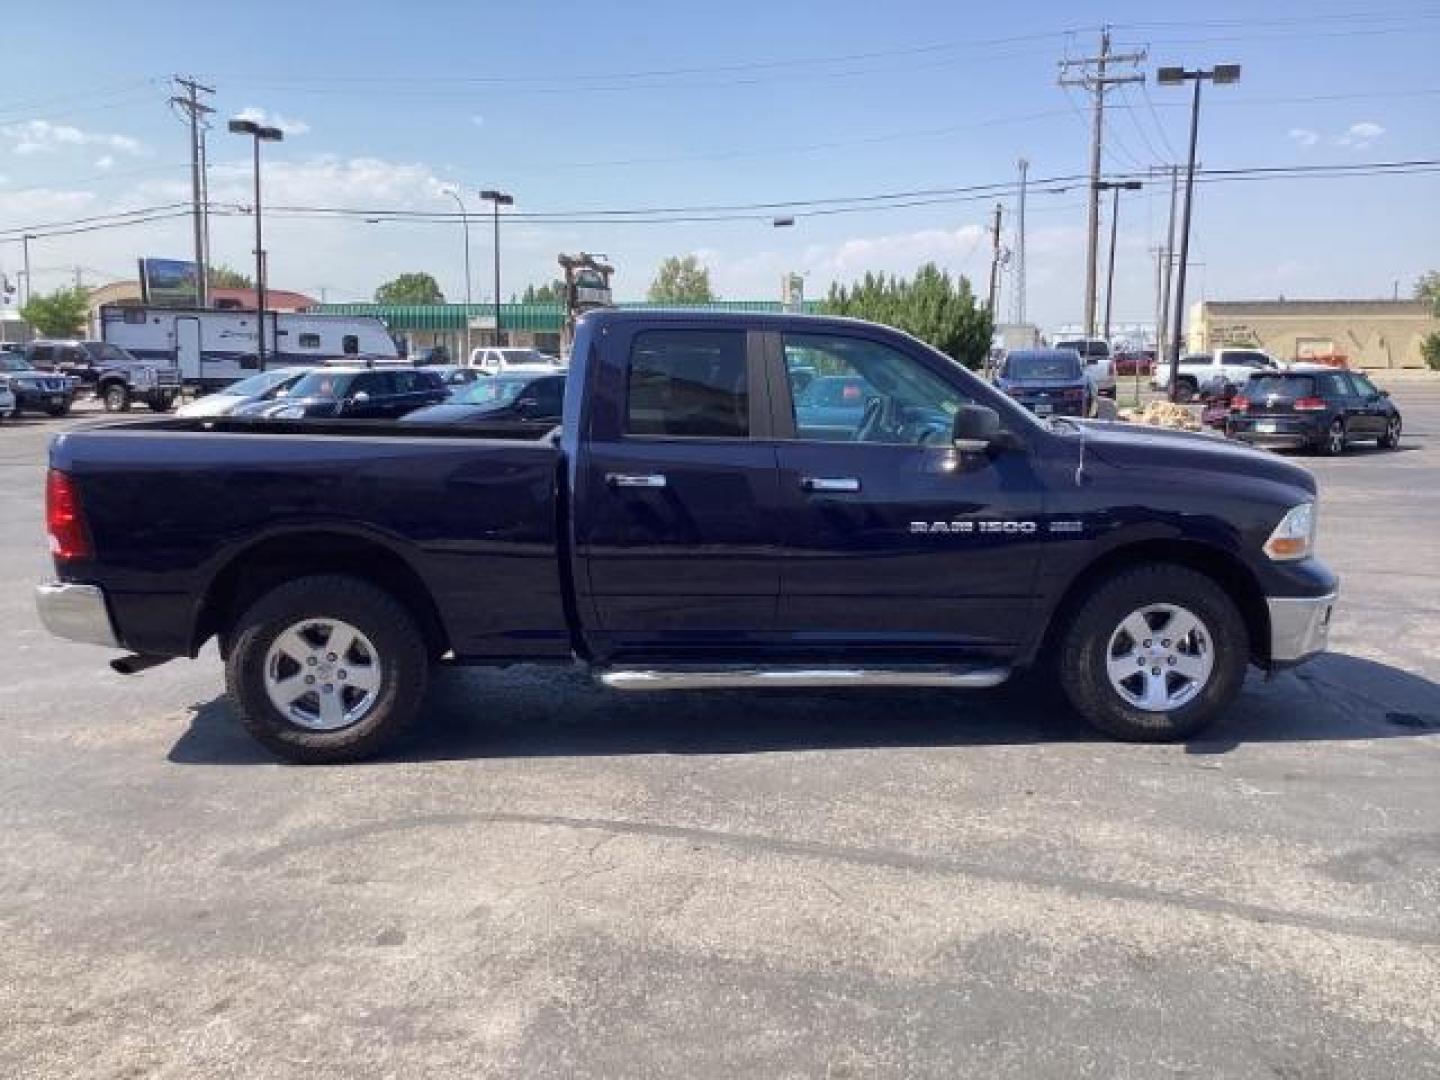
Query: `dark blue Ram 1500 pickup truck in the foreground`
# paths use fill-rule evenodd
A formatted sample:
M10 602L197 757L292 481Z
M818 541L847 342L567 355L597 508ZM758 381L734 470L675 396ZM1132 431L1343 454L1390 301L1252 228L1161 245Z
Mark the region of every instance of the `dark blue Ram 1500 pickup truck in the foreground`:
M791 367L871 396L812 429ZM128 649L127 672L217 638L240 720L300 762L377 752L441 662L579 660L615 690L691 693L1034 667L1104 732L1164 740L1220 714L1247 665L1326 642L1338 583L1305 469L1040 420L886 327L595 311L564 393L559 428L62 433L40 613Z

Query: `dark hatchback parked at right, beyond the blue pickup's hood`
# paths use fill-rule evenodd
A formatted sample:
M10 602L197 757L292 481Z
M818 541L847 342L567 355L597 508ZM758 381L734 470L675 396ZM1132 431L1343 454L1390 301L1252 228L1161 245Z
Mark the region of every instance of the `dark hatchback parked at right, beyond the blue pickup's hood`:
M1256 446L1344 454L1352 442L1400 445L1400 410L1358 372L1290 369L1253 374L1230 402L1231 438Z

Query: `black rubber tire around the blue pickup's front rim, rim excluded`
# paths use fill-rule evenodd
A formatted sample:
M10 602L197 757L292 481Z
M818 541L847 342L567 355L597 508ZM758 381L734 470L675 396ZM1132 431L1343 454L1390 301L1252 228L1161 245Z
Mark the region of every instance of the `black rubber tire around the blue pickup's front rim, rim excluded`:
M1149 711L1126 701L1106 672L1112 635L1132 612L1172 603L1194 612L1208 631L1214 664L1188 703ZM1058 635L1060 684L1090 724L1130 742L1188 739L1234 701L1250 661L1250 638L1234 600L1211 577L1184 566L1149 563L1120 570L1097 585Z

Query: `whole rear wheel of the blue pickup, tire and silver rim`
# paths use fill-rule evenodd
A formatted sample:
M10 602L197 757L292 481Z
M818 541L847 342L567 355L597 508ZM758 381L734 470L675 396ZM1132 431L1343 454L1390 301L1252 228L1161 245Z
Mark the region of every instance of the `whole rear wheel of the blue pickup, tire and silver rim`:
M369 582L300 577L236 624L225 664L240 721L301 765L379 753L419 716L429 681L425 636L409 611Z

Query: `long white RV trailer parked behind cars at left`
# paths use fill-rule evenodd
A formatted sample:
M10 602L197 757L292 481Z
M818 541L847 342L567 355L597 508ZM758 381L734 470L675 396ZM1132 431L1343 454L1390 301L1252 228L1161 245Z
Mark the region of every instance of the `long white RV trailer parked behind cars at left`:
M107 304L99 314L102 341L141 360L180 369L186 386L217 390L261 370L255 311L157 308ZM393 360L395 338L373 315L265 315L265 367L323 364L361 357Z

